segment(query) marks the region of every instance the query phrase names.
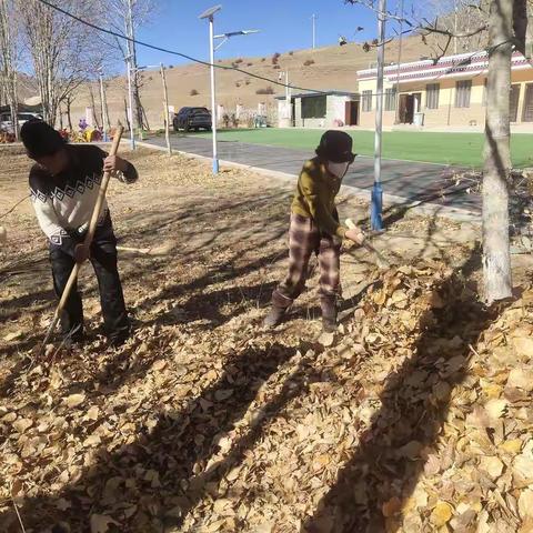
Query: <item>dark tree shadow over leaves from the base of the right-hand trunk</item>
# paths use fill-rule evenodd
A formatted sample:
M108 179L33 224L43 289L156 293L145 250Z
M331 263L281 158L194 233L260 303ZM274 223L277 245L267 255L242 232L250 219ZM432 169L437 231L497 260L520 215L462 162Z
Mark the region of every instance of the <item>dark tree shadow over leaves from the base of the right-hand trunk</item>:
M422 315L414 355L388 378L381 408L302 532L378 533L401 526L401 516L385 519L383 506L413 493L446 419L450 394L469 375L471 346L505 306L487 309L476 300L464 274L479 265L479 254L472 254L463 270L440 283L443 304Z

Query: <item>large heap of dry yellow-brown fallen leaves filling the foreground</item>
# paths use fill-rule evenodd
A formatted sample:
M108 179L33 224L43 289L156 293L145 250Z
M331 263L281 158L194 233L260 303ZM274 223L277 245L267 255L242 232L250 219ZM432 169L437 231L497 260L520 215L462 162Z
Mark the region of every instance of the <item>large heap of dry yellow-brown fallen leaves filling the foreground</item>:
M1 520L13 499L28 531L529 531L533 292L497 315L449 270L374 276L330 346L241 316L143 330L122 362L91 346L89 382L20 375Z

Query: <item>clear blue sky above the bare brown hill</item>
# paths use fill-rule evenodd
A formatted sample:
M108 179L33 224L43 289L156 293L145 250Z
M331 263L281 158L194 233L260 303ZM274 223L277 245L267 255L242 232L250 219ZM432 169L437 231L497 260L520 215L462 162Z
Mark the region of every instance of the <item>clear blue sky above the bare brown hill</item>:
M269 56L311 48L311 16L316 14L316 46L334 44L340 34L349 40L364 41L376 34L375 13L361 6L345 4L343 0L159 0L149 23L137 32L137 38L177 50L199 59L209 57L208 22L198 16L207 8L221 3L215 18L215 32L259 29L258 34L234 37L219 52L218 58ZM396 0L390 0L394 7ZM409 3L409 2L406 2ZM363 31L355 34L355 28ZM179 58L143 47L138 49L138 62L179 64Z

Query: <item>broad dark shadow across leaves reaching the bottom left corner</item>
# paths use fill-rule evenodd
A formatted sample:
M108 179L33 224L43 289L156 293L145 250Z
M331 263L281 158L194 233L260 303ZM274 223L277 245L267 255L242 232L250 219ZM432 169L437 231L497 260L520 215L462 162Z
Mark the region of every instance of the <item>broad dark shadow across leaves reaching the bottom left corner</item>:
M295 348L278 343L233 352L221 376L198 396L184 400L178 410L158 413L151 429L144 428L130 444L111 453L100 449L79 480L58 493L24 500L19 506L24 526L44 531L66 522L70 531L81 532L92 514L110 507L118 522L114 531L160 531L177 523L181 509L190 505L189 480L205 469L221 436L242 419L261 385L295 353ZM68 509L58 509L60 501ZM133 514L127 512L131 510ZM0 515L0 523L2 531L17 531L12 511Z

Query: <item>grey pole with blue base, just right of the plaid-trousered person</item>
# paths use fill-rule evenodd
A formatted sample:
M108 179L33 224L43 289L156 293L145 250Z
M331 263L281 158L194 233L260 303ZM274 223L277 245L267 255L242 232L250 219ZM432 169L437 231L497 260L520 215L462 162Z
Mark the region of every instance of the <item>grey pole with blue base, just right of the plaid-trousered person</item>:
M381 140L383 132L383 64L385 58L385 9L386 0L380 0L378 13L378 87L375 94L374 187L370 204L372 230L383 229L383 188L381 185Z

